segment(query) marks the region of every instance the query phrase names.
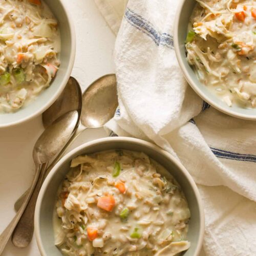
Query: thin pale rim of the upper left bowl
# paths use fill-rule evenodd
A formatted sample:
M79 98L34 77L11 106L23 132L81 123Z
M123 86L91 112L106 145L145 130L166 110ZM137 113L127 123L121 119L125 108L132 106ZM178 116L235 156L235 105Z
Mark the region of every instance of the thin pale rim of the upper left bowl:
M69 77L71 75L71 72L72 72L72 69L73 69L73 66L74 66L74 62L75 62L76 32L75 32L75 26L74 26L74 23L73 23L73 19L71 17L71 14L68 12L68 8L67 8L66 4L63 3L62 0L58 0L58 2L59 2L59 5L63 8L63 10L65 12L65 15L67 16L67 22L68 22L69 27L70 27L70 35L71 35L70 61L68 63L68 67L66 69L65 76L63 76L62 82L60 83L58 89L55 91L55 93L51 97L51 100L49 100L45 105L43 105L37 111L35 111L35 112L31 113L30 115L26 116L25 118L19 119L18 121L13 121L13 122L9 122L9 123L0 124L0 129L24 123L26 121L29 121L29 120L39 116L42 112L47 110L53 104L53 102L59 97L59 95L61 94L61 92L63 91L63 89L65 88L65 86L66 86L66 84L69 80Z

